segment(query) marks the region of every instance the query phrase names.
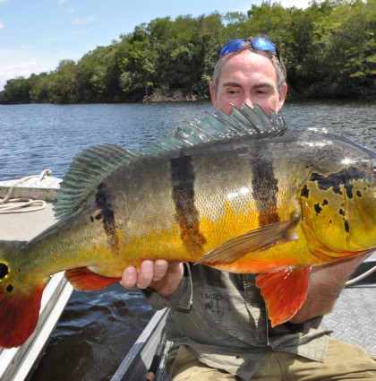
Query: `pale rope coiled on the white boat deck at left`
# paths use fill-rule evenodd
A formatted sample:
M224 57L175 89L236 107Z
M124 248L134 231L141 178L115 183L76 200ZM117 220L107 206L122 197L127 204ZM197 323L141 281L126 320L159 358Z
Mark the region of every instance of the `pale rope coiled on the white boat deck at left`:
M8 194L5 195L3 199L0 199L0 214L7 213L22 213L22 212L35 212L41 211L46 208L47 203L44 200L33 200L29 197L17 197L11 198L13 195L13 190L15 186L20 185L21 183L29 180L30 178L38 178L37 184L42 181L45 176L51 176L52 170L45 169L39 175L31 175L25 178L20 178L15 181L8 190ZM10 205L9 203L16 203Z

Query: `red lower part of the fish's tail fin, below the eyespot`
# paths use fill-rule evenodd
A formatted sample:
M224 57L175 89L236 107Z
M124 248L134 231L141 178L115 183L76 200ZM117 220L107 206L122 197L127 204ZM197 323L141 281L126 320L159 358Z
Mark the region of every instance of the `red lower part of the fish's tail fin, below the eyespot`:
M19 347L38 324L44 285L25 294L16 285L0 288L0 347Z

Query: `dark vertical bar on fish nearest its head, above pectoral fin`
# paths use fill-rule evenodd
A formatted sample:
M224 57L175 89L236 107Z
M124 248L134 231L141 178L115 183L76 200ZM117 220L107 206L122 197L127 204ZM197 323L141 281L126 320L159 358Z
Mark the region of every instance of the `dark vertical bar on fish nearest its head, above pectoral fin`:
M252 160L252 191L259 212L260 226L279 222L277 195L278 179L275 178L272 155L265 147L255 145Z

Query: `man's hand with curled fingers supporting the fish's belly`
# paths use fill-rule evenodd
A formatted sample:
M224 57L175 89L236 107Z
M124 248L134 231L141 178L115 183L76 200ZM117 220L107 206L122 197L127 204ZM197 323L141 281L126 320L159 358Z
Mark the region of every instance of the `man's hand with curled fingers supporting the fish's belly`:
M163 259L155 262L146 260L141 263L139 272L133 266L125 268L122 284L125 289L148 287L163 297L170 296L179 287L184 275L183 263L169 264Z

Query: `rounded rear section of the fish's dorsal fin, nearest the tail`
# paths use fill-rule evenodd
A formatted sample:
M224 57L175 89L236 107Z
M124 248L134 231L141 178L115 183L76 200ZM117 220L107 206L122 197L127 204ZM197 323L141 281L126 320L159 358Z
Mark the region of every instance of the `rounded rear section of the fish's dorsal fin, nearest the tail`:
M57 218L64 218L80 205L93 184L118 166L141 156L141 152L105 144L90 147L73 158L71 168L65 174L57 192L54 210Z

